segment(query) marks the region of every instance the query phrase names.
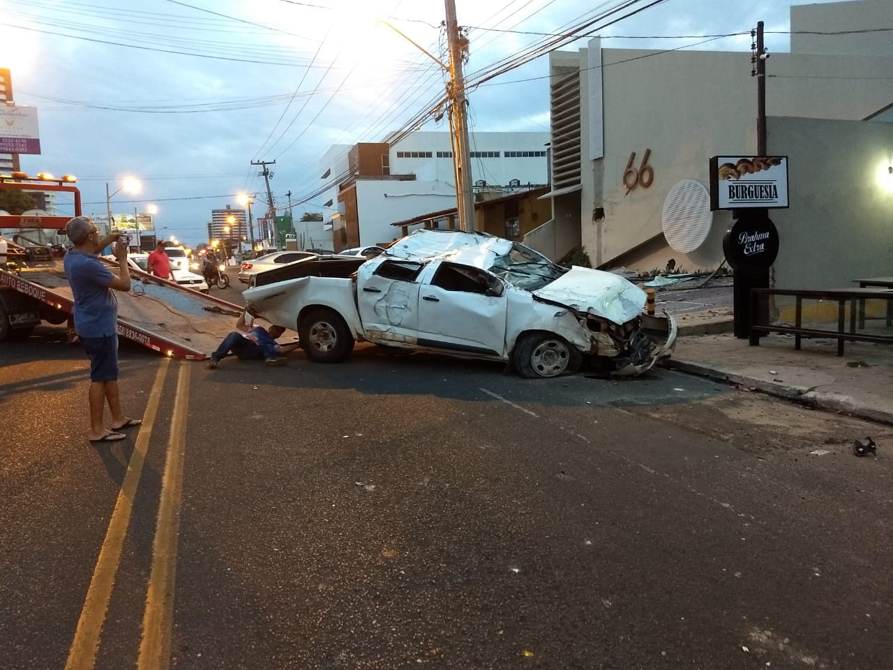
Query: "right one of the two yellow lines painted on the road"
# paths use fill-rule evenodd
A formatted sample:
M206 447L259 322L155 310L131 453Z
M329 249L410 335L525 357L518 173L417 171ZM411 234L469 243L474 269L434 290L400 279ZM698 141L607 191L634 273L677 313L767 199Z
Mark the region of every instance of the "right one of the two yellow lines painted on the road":
M167 670L171 666L174 582L177 575L179 508L186 453L186 416L189 399L189 363L181 363L171 422L171 446L164 465L158 521L152 542L152 571L146 591L143 639L139 643L138 670Z

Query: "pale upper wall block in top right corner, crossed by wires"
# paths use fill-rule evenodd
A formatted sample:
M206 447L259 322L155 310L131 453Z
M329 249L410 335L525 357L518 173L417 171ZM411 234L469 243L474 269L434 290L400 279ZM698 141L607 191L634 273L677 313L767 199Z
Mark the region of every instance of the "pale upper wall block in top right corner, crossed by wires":
M790 8L790 50L799 54L893 55L889 32L804 34L805 31L840 33L872 28L893 28L893 2L860 0L858 3L795 5Z

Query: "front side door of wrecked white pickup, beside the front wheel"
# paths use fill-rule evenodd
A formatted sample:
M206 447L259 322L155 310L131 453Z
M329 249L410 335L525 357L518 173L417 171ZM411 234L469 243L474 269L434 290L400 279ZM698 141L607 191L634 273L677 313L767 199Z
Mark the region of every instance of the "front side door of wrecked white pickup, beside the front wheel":
M497 276L471 265L431 264L419 298L420 346L503 356L507 299Z

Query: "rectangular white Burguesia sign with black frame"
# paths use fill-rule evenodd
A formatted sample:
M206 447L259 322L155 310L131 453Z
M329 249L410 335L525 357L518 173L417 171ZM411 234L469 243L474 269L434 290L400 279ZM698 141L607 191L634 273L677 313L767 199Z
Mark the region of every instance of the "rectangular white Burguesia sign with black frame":
M713 156L710 209L788 206L788 156Z

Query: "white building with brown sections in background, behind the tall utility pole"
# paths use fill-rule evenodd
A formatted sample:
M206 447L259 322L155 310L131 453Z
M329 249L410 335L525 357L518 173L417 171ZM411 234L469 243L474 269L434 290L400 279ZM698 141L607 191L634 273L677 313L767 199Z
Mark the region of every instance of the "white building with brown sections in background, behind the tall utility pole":
M476 197L546 185L548 141L547 132L470 133ZM392 223L455 207L447 132L413 132L393 144L332 147L321 171L321 180L332 182L321 196L323 206L332 208L321 232L329 236L326 241L336 251L389 243L399 234Z

